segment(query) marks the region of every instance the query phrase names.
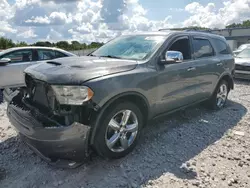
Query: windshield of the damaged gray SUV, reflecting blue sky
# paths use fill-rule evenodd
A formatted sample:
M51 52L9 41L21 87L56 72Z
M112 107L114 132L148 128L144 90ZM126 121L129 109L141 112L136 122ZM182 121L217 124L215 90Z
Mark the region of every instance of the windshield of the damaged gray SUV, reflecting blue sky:
M93 52L92 56L144 60L165 41L166 36L121 36Z

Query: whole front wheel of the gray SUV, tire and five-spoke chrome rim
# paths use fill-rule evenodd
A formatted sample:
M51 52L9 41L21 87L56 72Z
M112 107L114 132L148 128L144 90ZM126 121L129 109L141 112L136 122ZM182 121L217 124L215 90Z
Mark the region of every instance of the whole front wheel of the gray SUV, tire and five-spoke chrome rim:
M128 123L122 128L122 117L125 117L124 114L129 114L129 112ZM110 123L112 119L115 120L115 123ZM130 102L118 103L107 109L100 122L101 124L98 125L94 139L94 149L100 156L118 159L126 156L134 149L143 127L142 113L136 105ZM110 126L111 124L113 124L112 127ZM131 132L127 132L129 128Z

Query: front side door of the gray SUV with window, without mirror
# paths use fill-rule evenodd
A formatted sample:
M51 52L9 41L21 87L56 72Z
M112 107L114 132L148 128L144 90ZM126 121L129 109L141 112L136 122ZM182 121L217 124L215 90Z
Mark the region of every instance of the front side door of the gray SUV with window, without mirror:
M199 87L196 63L191 55L190 37L180 36L173 39L164 54L166 51L180 51L184 60L158 67L156 112L159 114L196 102Z

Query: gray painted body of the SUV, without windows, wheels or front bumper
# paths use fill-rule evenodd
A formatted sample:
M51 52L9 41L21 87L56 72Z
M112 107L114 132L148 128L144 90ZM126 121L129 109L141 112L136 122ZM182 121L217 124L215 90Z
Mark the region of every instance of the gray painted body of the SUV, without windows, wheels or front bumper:
M153 32L168 35L166 42L147 61L119 60L91 56L68 57L31 66L25 72L32 77L59 85L85 85L94 91L93 102L101 108L123 93L138 93L149 104L149 117L209 98L221 75L231 77L232 54L219 55L213 39L224 37L201 32ZM149 34L149 33L146 33ZM177 37L195 36L210 40L212 57L159 65L170 43ZM194 68L193 71L189 71Z

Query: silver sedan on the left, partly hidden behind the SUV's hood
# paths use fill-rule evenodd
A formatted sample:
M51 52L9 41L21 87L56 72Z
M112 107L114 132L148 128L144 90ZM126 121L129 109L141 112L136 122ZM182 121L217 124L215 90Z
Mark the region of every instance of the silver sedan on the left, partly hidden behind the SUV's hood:
M65 50L49 47L19 47L0 52L0 89L25 85L23 71L46 60L76 56Z

